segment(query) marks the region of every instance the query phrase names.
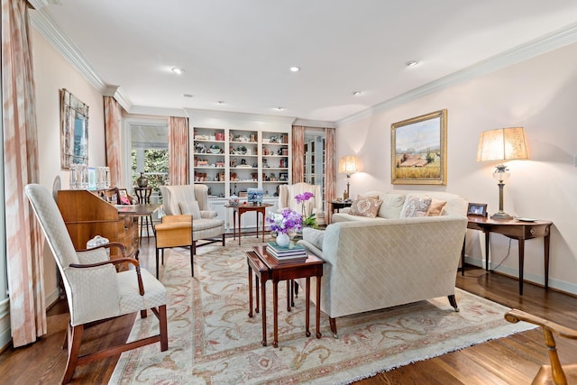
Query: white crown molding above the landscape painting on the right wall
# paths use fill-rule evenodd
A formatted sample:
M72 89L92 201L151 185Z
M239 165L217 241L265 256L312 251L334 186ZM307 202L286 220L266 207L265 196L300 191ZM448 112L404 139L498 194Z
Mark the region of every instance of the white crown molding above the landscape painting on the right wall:
M439 78L422 87L417 87L378 105L373 105L359 113L347 116L337 121L336 126L340 127L346 124L352 124L361 119L368 118L371 115L389 110L394 106L406 104L422 96L427 96L472 78L478 78L499 69L504 69L513 64L534 58L552 50L557 50L574 42L577 42L577 23L572 23L561 30L551 32L533 41L527 41L511 50L506 50L487 60L482 60L471 67L453 72L444 78Z

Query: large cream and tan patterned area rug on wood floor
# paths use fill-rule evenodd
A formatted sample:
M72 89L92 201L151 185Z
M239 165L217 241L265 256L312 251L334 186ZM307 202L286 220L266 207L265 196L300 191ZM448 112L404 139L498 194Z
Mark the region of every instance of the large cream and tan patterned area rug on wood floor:
M284 283L279 284L279 347L272 343L272 304L267 304L269 346L261 346L261 316L248 316L245 252L257 244L197 249L195 278L190 276L188 250L165 252L160 280L169 291L169 350L152 344L123 353L112 384L295 384L350 383L453 352L490 339L528 330L533 325L509 324L508 310L457 289L460 312L447 298L337 318L339 338L330 333L321 314L322 338L305 335L303 296L288 312ZM268 284L270 285L270 283ZM272 289L267 289L270 299ZM136 317L131 339L158 330L156 317Z

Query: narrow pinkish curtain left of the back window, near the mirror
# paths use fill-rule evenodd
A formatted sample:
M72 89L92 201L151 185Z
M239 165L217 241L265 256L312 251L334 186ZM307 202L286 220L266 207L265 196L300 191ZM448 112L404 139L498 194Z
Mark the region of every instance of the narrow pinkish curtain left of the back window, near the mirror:
M105 98L105 142L106 142L106 166L110 168L110 185L122 186L122 149L120 122L120 104L114 96L104 96Z

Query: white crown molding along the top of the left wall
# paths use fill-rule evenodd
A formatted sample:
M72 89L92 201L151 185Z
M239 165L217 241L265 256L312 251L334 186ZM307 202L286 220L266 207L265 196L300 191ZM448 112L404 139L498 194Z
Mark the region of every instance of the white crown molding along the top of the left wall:
M67 60L70 65L76 69L80 75L87 80L87 82L95 87L102 95L106 95L109 87L103 80L100 74L92 67L87 58L78 50L78 47L70 41L69 37L58 27L57 23L50 16L46 10L46 5L50 3L46 0L30 0L35 10L30 13L30 20L32 27L41 33L42 37L50 43L55 50L60 52L60 55ZM130 111L132 102L121 89L114 92L114 98L124 110Z

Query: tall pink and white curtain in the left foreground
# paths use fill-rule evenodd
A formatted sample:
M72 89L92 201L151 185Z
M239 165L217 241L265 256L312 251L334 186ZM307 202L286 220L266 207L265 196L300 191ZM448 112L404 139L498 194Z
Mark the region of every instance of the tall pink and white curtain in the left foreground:
M30 34L27 2L2 0L5 252L14 347L46 334L43 240L24 196L24 186L39 181Z

